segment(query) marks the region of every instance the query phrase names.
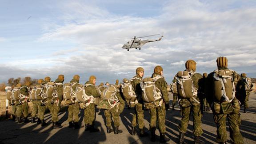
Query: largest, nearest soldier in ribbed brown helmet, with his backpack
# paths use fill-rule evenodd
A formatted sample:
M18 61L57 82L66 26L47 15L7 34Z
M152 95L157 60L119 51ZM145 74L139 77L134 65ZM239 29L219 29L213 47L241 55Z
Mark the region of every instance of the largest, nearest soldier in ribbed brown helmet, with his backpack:
M240 133L240 105L235 98L235 82L233 81L236 73L228 69L228 59L218 57L218 69L207 76L207 100L212 105L212 114L217 125L217 141L226 144L226 117L230 130L232 144L243 144L243 137ZM225 83L225 84L224 84Z

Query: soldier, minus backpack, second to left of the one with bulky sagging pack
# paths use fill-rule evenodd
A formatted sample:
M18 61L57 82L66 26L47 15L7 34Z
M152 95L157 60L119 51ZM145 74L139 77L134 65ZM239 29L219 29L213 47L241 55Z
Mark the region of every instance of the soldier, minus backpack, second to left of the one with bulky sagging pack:
M79 79L80 76L75 75L73 76L73 79L70 81L70 84L72 85L72 89L74 92L76 92L76 87L79 85ZM68 128L75 128L78 129L80 128L78 121L79 121L79 110L80 110L80 105L79 103L75 100L75 98L72 98L72 100L67 100L66 103L68 103ZM74 118L74 124L72 122Z

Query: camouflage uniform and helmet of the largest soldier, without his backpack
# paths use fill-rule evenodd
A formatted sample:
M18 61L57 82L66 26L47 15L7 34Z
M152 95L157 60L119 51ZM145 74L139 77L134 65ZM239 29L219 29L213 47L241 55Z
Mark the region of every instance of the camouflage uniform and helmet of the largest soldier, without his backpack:
M223 62L223 64L219 64L219 61L226 61L225 57L219 57L217 59L218 69L228 69L227 64ZM224 66L222 66L224 65ZM235 72L234 72L235 73ZM217 141L220 143L224 143L227 141L227 132L226 132L226 117L228 117L228 124L230 129L230 138L232 144L243 144L243 137L240 133L239 125L240 125L240 113L239 113L239 102L235 98L232 102L227 101L219 101L214 97L213 90L213 78L214 72L210 73L207 76L207 100L209 103L213 103L212 112L213 118L217 125Z

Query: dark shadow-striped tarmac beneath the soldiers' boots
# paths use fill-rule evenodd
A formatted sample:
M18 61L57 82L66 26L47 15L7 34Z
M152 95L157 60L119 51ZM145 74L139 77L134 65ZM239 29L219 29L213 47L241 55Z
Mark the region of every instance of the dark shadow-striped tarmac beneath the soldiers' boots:
M170 96L170 106L172 106L172 96ZM240 125L240 132L244 137L244 144L256 144L256 94L252 93L249 97L249 110L244 113L244 108L241 107L240 114L242 123ZM168 110L166 113L166 136L170 139L168 144L176 144L179 137L177 126L180 124L180 106L176 104L176 110ZM52 129L51 115L47 113L45 120L47 126L41 127L34 123L17 124L12 120L0 121L0 144L153 144L150 141L150 132L148 130L150 115L149 111L144 112L145 129L148 136L140 138L138 134L132 136L131 121L134 108L125 108L120 115L120 127L123 133L115 135L113 132L108 134L106 131L104 121L104 111L97 110L96 113L96 127L100 132L90 133L84 131L83 115L84 111L80 111L80 129L68 128L68 112L60 112L59 119L63 128ZM30 118L29 118L30 119ZM194 136L192 132L192 116L188 124L188 130L185 134L185 143L193 144ZM227 144L231 144L229 138L228 122L227 124ZM217 144L216 142L216 124L213 121L212 111L204 112L202 118L203 135L200 137L201 144ZM139 133L139 128L136 129ZM159 131L156 130L157 140L159 143Z

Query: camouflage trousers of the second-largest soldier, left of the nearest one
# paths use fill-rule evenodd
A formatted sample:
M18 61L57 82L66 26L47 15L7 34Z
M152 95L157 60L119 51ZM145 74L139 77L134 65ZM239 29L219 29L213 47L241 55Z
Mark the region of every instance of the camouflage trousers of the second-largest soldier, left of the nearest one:
M192 99L191 99L192 100ZM181 121L178 126L179 132L186 133L188 128L188 122L190 114L193 117L193 134L195 136L201 136L203 134L201 127L201 110L200 104L196 103L196 101L190 101L188 99L180 100L180 108L181 108Z

